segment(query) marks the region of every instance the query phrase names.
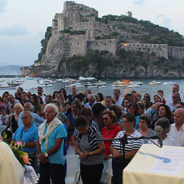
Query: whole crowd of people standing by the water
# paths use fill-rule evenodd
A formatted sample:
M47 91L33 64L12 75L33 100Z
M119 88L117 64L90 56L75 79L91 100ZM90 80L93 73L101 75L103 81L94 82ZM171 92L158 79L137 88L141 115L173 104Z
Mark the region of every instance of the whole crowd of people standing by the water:
M154 136L162 128L163 145L184 146L184 98L174 84L170 96L158 90L152 98L136 91L113 96L86 90L72 93L64 88L44 95L17 88L0 97L0 130L9 141L19 141L31 164L39 173L39 183L64 184L70 153L79 155L83 184L107 183L105 174L112 168L112 183L122 183L122 172L142 144L153 140L128 140L123 150L120 139ZM153 99L153 100L152 100ZM114 139L114 140L104 140ZM155 142L154 142L155 143ZM157 141L160 143L160 140Z

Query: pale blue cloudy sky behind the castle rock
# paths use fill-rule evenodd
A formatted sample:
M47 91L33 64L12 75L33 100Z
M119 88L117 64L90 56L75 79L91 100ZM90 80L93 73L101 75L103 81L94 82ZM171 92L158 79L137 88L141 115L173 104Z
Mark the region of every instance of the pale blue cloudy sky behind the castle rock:
M126 15L167 27L184 35L184 0L76 0L95 8L99 16ZM0 66L29 66L38 58L40 41L63 11L63 0L0 0Z

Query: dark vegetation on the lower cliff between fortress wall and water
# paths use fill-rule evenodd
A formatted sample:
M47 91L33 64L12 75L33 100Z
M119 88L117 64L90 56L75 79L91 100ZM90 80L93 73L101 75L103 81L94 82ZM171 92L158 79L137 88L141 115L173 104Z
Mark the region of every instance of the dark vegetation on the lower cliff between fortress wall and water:
M170 71L182 75L184 70L184 59L165 59L157 57L155 54L124 49L119 49L117 56L114 57L107 51L89 51L84 57L62 59L57 74L63 77L82 75L100 79L118 76L154 77L159 76L160 73L167 75ZM67 66L65 71L64 65Z

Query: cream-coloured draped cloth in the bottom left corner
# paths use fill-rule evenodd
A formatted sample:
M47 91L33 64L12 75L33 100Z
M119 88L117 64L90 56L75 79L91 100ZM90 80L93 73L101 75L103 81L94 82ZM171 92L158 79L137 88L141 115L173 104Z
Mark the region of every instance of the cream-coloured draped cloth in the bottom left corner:
M10 147L0 141L0 183L23 184L24 170Z

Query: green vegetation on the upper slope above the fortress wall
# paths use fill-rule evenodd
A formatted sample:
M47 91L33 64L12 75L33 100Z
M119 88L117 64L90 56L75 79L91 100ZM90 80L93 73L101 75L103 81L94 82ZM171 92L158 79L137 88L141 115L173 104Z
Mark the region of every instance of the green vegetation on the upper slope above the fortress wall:
M102 18L96 18L96 20L105 24L116 22L114 27L120 28L128 33L143 33L136 36L134 39L138 39L139 41L144 43L184 46L184 37L178 32L174 32L173 30L169 30L165 27L155 25L150 21L138 20L126 15L106 15ZM127 25L127 23L130 24ZM109 35L109 37L110 36L111 35Z

